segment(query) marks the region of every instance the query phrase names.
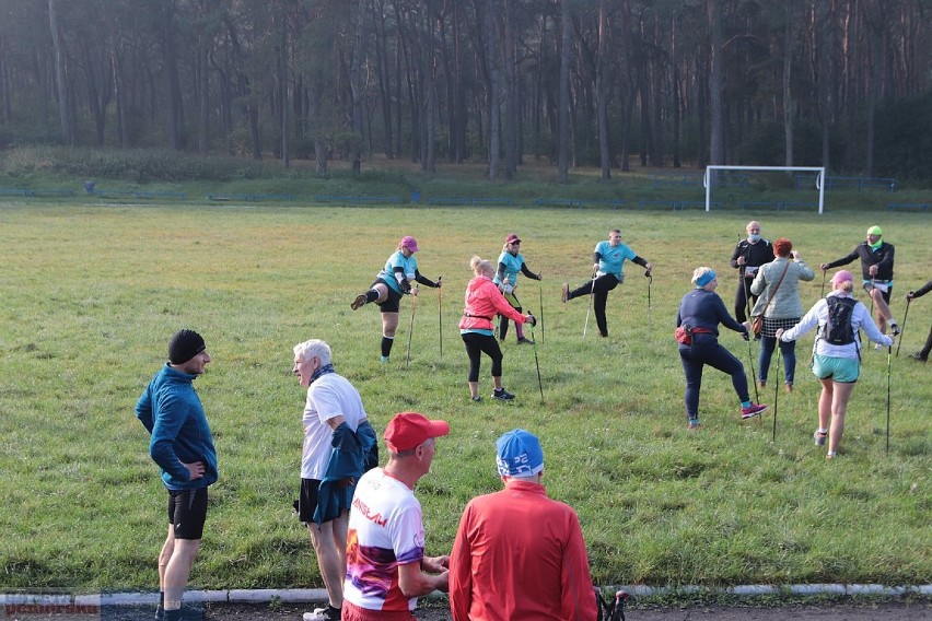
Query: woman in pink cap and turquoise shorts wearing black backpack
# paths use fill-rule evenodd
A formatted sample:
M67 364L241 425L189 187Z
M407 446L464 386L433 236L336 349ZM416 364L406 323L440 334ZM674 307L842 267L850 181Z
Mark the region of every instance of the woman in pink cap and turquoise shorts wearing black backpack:
M869 339L883 347L893 345L871 318L866 306L854 300L851 292L854 278L848 270L831 277L831 292L809 308L809 312L789 330L777 330L782 342L795 341L818 326L813 344L813 373L822 382L818 398L818 429L813 434L816 446L825 446L826 459L831 459L844 433L844 412L861 374L861 343L858 331L863 328Z

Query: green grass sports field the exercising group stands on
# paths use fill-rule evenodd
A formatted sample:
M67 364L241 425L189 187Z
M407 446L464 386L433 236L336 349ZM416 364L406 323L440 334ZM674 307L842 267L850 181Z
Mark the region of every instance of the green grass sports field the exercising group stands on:
M928 214L759 215L767 237L789 236L811 266L847 254L881 224L898 250L900 323L902 294L932 276ZM213 356L196 387L221 469L193 587L321 585L291 509L304 400L291 348L312 337L331 344L337 371L360 389L380 435L403 410L451 422L418 487L429 553L448 551L470 497L499 488L494 438L523 426L541 437L548 492L580 514L597 584L929 583L932 370L907 355L932 323L929 298L911 305L893 360L888 455L887 355L870 348L839 458L826 462L813 446L812 336L797 349L796 391L779 395L776 443L773 411L739 422L730 380L714 371L703 383L702 430L685 429L672 337L677 304L692 269L709 265L731 307L736 277L727 259L748 219L736 211L0 204L0 588L156 586L165 494L132 408L180 327L200 331ZM654 265L650 312L648 281L629 263L609 296L610 337L596 338L593 321L583 340L585 301L561 304L560 284L587 277L593 246L615 226ZM494 260L509 232L544 273L540 289L525 280L519 293L544 319L535 336L545 402L533 350L512 340L504 380L517 399L473 403L456 329L468 260ZM349 308L404 234L420 243L421 271L444 280L442 301L422 290L407 370L411 298L389 364L378 363L376 309ZM806 307L820 285L817 277L802 286ZM748 344L732 332L722 342L748 366ZM484 394L488 368L485 360ZM772 403L773 392L761 400Z

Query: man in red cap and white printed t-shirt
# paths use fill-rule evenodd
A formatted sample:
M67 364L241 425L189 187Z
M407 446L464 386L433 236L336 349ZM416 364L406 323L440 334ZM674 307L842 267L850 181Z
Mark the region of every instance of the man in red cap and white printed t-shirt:
M385 430L388 464L359 481L352 499L343 583L343 621L409 621L418 597L447 590L450 556L424 556L424 527L415 484L430 471L444 421L417 412Z

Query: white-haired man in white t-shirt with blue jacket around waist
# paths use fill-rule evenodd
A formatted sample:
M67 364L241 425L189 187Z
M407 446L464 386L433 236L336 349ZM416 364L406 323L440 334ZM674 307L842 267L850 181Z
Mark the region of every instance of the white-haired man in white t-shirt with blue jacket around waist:
M356 482L378 465L375 431L359 391L334 371L330 348L312 339L294 345L294 368L307 387L302 422L301 496L298 517L307 526L329 601L304 621L340 618L347 563L347 524Z

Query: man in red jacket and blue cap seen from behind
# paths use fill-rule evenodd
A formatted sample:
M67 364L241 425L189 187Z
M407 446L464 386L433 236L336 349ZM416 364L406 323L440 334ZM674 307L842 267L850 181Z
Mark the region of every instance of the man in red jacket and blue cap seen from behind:
M455 621L593 621L580 520L540 484L544 453L515 429L496 443L504 490L473 499L450 556Z

